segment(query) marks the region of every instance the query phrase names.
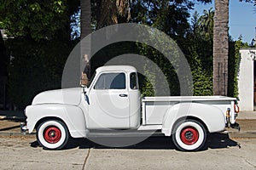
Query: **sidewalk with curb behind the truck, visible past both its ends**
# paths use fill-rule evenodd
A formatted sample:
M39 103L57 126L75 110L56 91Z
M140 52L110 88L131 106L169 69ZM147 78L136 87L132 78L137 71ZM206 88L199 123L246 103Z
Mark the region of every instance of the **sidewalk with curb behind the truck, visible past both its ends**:
M20 133L20 122L25 122L26 116L22 111L0 111L0 136L23 136ZM256 139L256 111L241 111L237 118L241 131L226 128L230 138ZM32 133L33 135L34 133ZM29 135L26 133L26 135Z

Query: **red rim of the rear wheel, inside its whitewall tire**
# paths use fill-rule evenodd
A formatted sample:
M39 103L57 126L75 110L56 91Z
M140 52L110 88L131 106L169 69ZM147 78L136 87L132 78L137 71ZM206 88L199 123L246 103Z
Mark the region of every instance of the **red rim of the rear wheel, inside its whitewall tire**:
M195 144L199 139L199 133L195 127L185 127L180 133L180 138L184 144Z

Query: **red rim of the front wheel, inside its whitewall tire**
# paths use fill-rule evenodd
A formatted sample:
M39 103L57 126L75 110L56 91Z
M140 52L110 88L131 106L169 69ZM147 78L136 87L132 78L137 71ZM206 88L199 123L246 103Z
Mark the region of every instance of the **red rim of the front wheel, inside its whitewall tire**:
M46 127L44 130L44 139L49 144L55 144L61 139L61 130L58 127Z

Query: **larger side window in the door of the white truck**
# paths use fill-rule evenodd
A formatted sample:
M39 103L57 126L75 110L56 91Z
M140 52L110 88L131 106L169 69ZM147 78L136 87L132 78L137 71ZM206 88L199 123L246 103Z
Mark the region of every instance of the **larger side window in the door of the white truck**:
M96 82L95 89L125 89L125 73L103 73Z

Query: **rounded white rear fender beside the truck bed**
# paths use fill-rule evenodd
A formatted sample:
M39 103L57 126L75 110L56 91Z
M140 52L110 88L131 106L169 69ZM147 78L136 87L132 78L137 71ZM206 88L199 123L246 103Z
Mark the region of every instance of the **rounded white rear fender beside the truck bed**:
M201 120L207 126L209 133L224 130L225 116L223 111L217 106L201 103L179 103L166 111L163 119L162 133L170 136L174 123L178 119L186 118L187 116Z

